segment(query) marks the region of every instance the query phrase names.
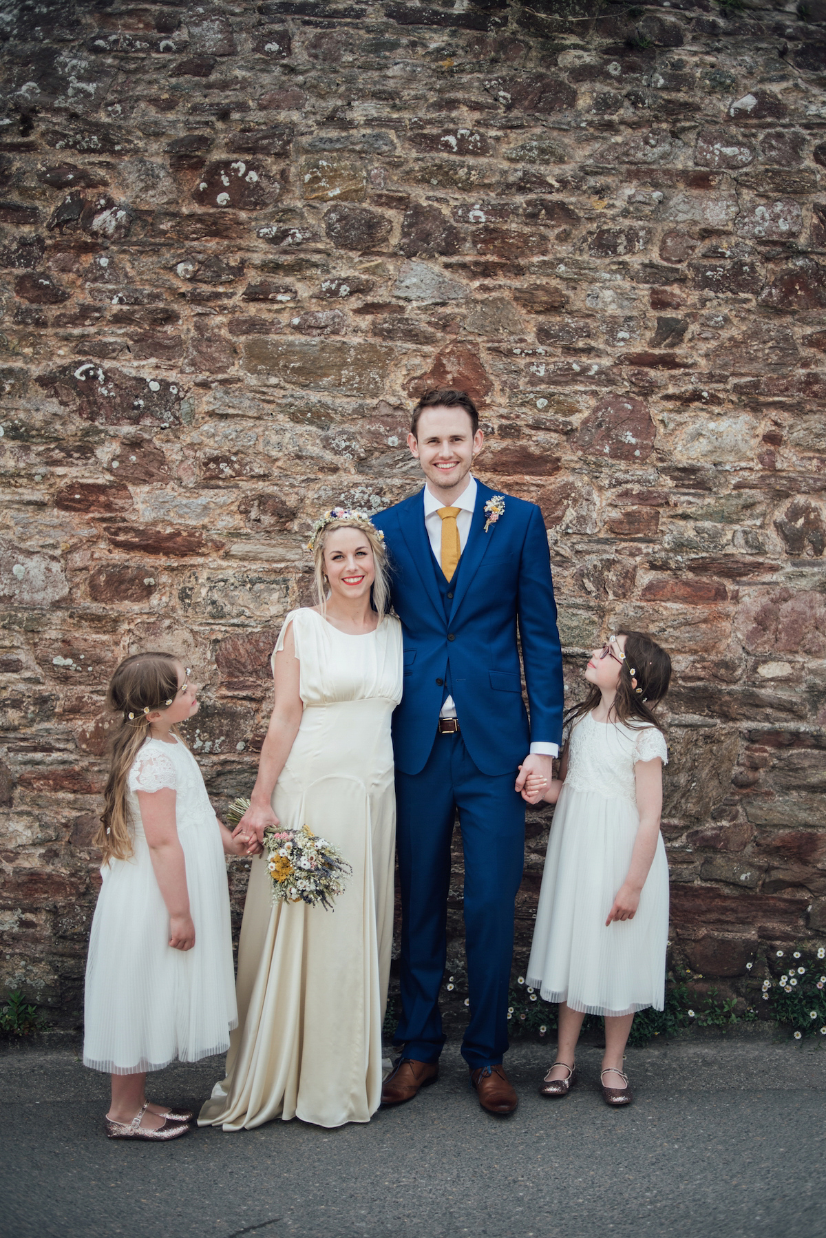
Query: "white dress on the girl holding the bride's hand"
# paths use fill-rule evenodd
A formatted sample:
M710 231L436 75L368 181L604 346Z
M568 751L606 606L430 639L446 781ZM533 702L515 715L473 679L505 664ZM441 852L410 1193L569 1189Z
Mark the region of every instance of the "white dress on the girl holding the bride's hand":
M186 859L192 950L172 950L170 916L136 791L176 791ZM229 1047L238 1023L229 891L218 821L186 744L147 739L129 771L130 859L100 869L85 972L83 1062L111 1075L194 1062Z

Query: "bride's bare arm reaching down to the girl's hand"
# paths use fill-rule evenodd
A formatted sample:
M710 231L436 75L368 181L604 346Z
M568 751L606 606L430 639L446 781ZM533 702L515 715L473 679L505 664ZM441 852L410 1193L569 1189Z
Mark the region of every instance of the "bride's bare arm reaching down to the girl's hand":
M300 662L292 638L292 624L284 638L284 649L275 655L272 678L275 680L275 706L258 763L258 777L250 796L250 806L238 822L234 833L253 834L264 842L267 826L277 826L271 800L275 784L290 755L301 724L303 704L300 696ZM251 849L251 848L250 848Z

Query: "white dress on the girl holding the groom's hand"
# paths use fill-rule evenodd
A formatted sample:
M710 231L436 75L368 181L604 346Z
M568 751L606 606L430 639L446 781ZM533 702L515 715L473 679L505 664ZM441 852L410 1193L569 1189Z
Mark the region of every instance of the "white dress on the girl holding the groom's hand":
M606 927L639 827L634 765L656 756L666 764L655 727L586 714L571 730L526 977L546 1002L601 1015L663 1009L669 865L661 836L637 915Z

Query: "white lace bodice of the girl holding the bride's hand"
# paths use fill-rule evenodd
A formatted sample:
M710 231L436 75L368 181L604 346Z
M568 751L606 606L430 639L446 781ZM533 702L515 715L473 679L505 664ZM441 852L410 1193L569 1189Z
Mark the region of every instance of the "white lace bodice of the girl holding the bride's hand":
M133 761L126 784L126 810L135 838L144 837L137 791L176 791L175 821L181 829L214 831L215 811L209 803L198 763L181 740L167 744L162 739L146 739Z

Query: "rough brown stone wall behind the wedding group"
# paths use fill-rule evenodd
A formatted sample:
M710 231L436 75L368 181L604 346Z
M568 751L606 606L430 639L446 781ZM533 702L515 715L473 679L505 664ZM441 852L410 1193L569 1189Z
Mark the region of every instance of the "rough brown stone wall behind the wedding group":
M78 1023L115 664L180 652L215 802L246 790L311 522L419 485L447 383L545 514L568 699L619 624L674 655L675 957L742 992L826 933L825 20L2 6L6 985Z

